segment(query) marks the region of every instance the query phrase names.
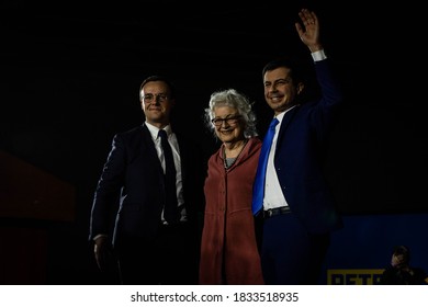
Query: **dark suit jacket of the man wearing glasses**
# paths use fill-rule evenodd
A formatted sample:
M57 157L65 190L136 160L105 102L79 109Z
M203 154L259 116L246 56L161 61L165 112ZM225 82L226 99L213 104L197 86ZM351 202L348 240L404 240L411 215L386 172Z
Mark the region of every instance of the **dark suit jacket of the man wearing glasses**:
M203 204L203 174L198 148L190 147L176 133L181 155L184 205L189 225L198 227L198 211ZM92 204L90 235L112 232L112 211L115 214L113 247L121 241L153 239L159 228L165 204L162 168L146 125L116 134L112 149L98 182ZM195 232L196 236L196 232Z

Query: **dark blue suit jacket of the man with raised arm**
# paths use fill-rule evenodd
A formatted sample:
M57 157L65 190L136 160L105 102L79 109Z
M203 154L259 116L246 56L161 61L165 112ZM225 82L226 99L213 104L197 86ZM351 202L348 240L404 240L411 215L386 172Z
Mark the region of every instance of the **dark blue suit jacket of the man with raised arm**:
M315 64L322 98L285 113L274 156L274 167L285 200L311 232L326 232L341 227L322 162L322 151L342 101L329 65L328 59Z

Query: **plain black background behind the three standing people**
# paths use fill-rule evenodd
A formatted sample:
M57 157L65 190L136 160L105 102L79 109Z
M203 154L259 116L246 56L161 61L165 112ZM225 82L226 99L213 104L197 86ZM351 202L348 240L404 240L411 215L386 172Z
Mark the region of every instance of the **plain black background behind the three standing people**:
M326 159L340 212L428 212L418 9L289 2L1 2L0 149L76 189L72 221L1 218L7 227L47 229L45 283L101 283L87 242L89 212L114 133L143 121L142 80L174 80L176 127L202 143L201 155L217 147L202 122L215 90L236 88L255 101L263 135L272 114L262 66L283 54L311 60L294 29L303 7L318 14L346 94Z

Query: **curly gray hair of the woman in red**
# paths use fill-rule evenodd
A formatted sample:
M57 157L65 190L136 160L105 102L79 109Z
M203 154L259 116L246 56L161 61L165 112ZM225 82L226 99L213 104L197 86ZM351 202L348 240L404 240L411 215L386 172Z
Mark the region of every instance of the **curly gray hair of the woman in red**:
M211 122L215 116L214 110L218 106L229 106L236 109L238 114L243 116L244 136L246 138L258 136L256 128L257 117L251 109L252 104L254 102L250 102L246 95L235 89L216 91L211 94L210 106L205 109L205 124L214 136L217 137L215 126Z

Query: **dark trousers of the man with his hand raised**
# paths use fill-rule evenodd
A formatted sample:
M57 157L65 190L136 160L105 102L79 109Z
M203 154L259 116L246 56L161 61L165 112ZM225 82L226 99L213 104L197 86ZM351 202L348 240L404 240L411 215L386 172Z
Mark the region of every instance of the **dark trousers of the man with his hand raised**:
M308 234L293 213L263 220L261 265L266 284L315 285L329 234Z

